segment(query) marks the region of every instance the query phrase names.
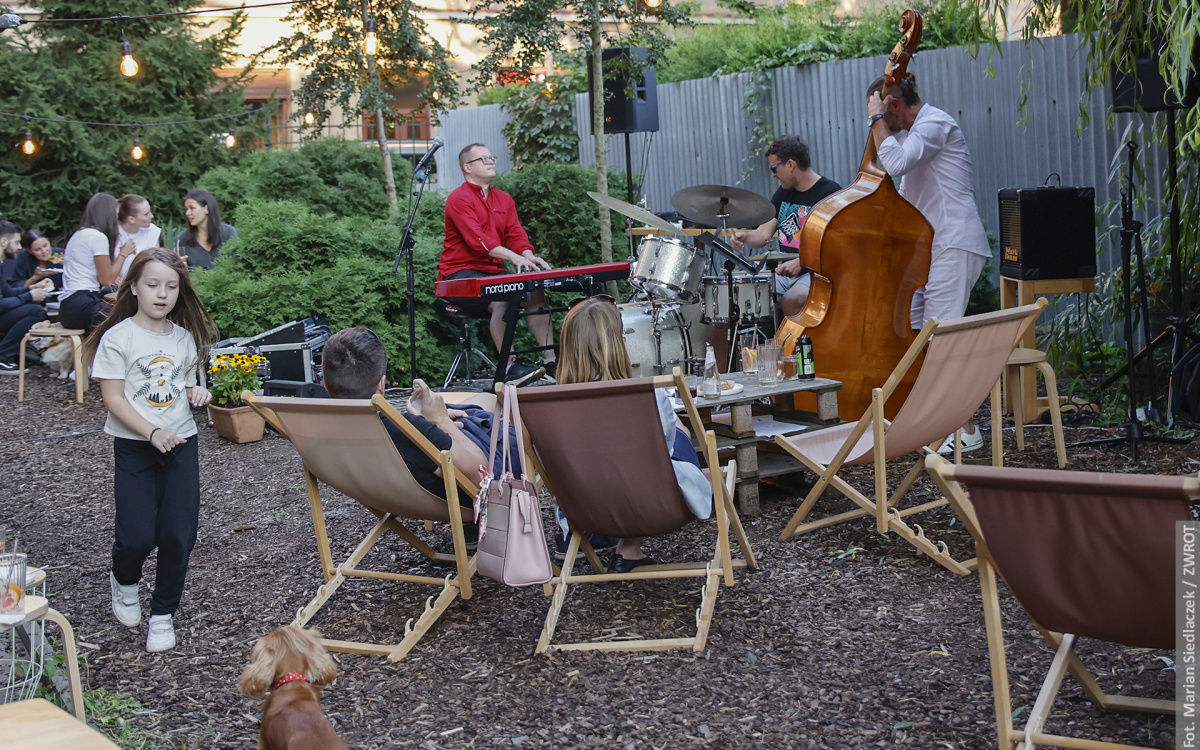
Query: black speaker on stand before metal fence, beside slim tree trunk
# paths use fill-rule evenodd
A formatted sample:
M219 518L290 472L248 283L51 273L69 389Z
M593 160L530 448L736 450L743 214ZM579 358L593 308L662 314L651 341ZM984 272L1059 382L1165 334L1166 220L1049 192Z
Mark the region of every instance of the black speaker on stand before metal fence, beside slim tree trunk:
M604 132L647 133L659 130L658 73L646 65L646 47L613 47L604 62ZM592 55L588 55L588 103L592 102ZM588 118L592 122L592 118Z

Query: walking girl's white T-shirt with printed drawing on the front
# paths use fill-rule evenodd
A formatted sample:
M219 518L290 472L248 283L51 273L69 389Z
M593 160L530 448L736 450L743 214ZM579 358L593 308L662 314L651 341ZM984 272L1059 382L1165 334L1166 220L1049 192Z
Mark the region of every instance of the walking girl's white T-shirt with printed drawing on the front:
M197 433L187 386L196 385L198 354L186 329L172 324L168 334L148 331L132 318L110 328L96 348L91 377L125 380L125 400L155 427L181 438ZM145 440L121 420L108 415L104 432L118 438Z

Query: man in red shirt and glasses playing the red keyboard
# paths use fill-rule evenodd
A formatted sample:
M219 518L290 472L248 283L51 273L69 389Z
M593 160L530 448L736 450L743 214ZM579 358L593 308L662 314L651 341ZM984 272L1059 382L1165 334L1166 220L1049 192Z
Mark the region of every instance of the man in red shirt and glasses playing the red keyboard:
M446 198L445 241L438 262L438 281L505 274L505 260L517 272L550 270L550 264L534 254L529 235L517 220L512 197L491 186L496 179L496 157L487 146L473 143L464 148L458 154L458 167L466 181ZM500 350L504 344L504 312L508 302L488 302L475 298L454 298L449 301L472 317L490 317L488 330L497 352ZM526 310L540 310L546 307L546 295L541 290L534 292L522 305ZM548 314L528 316L526 325L539 347L554 343ZM546 373L554 377L554 350L544 349L541 358ZM502 380L516 380L536 370L515 361L515 358L499 362L499 366L506 368L504 377L498 378Z

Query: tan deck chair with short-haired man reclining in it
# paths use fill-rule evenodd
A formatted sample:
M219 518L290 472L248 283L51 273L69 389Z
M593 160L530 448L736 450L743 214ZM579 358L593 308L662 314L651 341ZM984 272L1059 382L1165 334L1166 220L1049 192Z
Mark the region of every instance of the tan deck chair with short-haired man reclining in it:
M437 600L426 600L425 611L413 624L404 625L404 637L400 643L361 643L354 641L323 641L325 648L353 654L386 654L389 661L403 659L416 646L421 636L445 612L456 596L470 599L470 577L475 572L474 557L467 556L462 533L462 509L460 493L474 497L474 481L455 470L450 451L438 451L409 424L383 396L366 400L257 397L244 392L242 397L268 422L278 430L304 461L305 484L308 488L308 508L320 552L320 568L325 577L317 595L296 612L293 624L304 626L325 605L342 583L350 577L382 578L439 587ZM485 408L494 407L494 396L482 397ZM446 499L421 487L396 445L388 436L383 421L396 425L414 445L442 466ZM325 516L320 502L318 480L356 500L371 511L378 522L354 548L346 562L334 565L325 532ZM434 552L425 541L410 532L401 520L440 521L450 524L454 536L454 554ZM377 570L360 570L359 564L379 539L392 530L430 560L454 563L454 575L443 577L396 574Z

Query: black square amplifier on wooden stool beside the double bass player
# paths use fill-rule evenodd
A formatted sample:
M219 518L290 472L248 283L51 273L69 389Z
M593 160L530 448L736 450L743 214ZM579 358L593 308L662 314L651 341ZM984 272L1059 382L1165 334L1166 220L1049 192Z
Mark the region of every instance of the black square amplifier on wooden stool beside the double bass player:
M1002 188L1000 274L1020 280L1096 276L1096 190Z

